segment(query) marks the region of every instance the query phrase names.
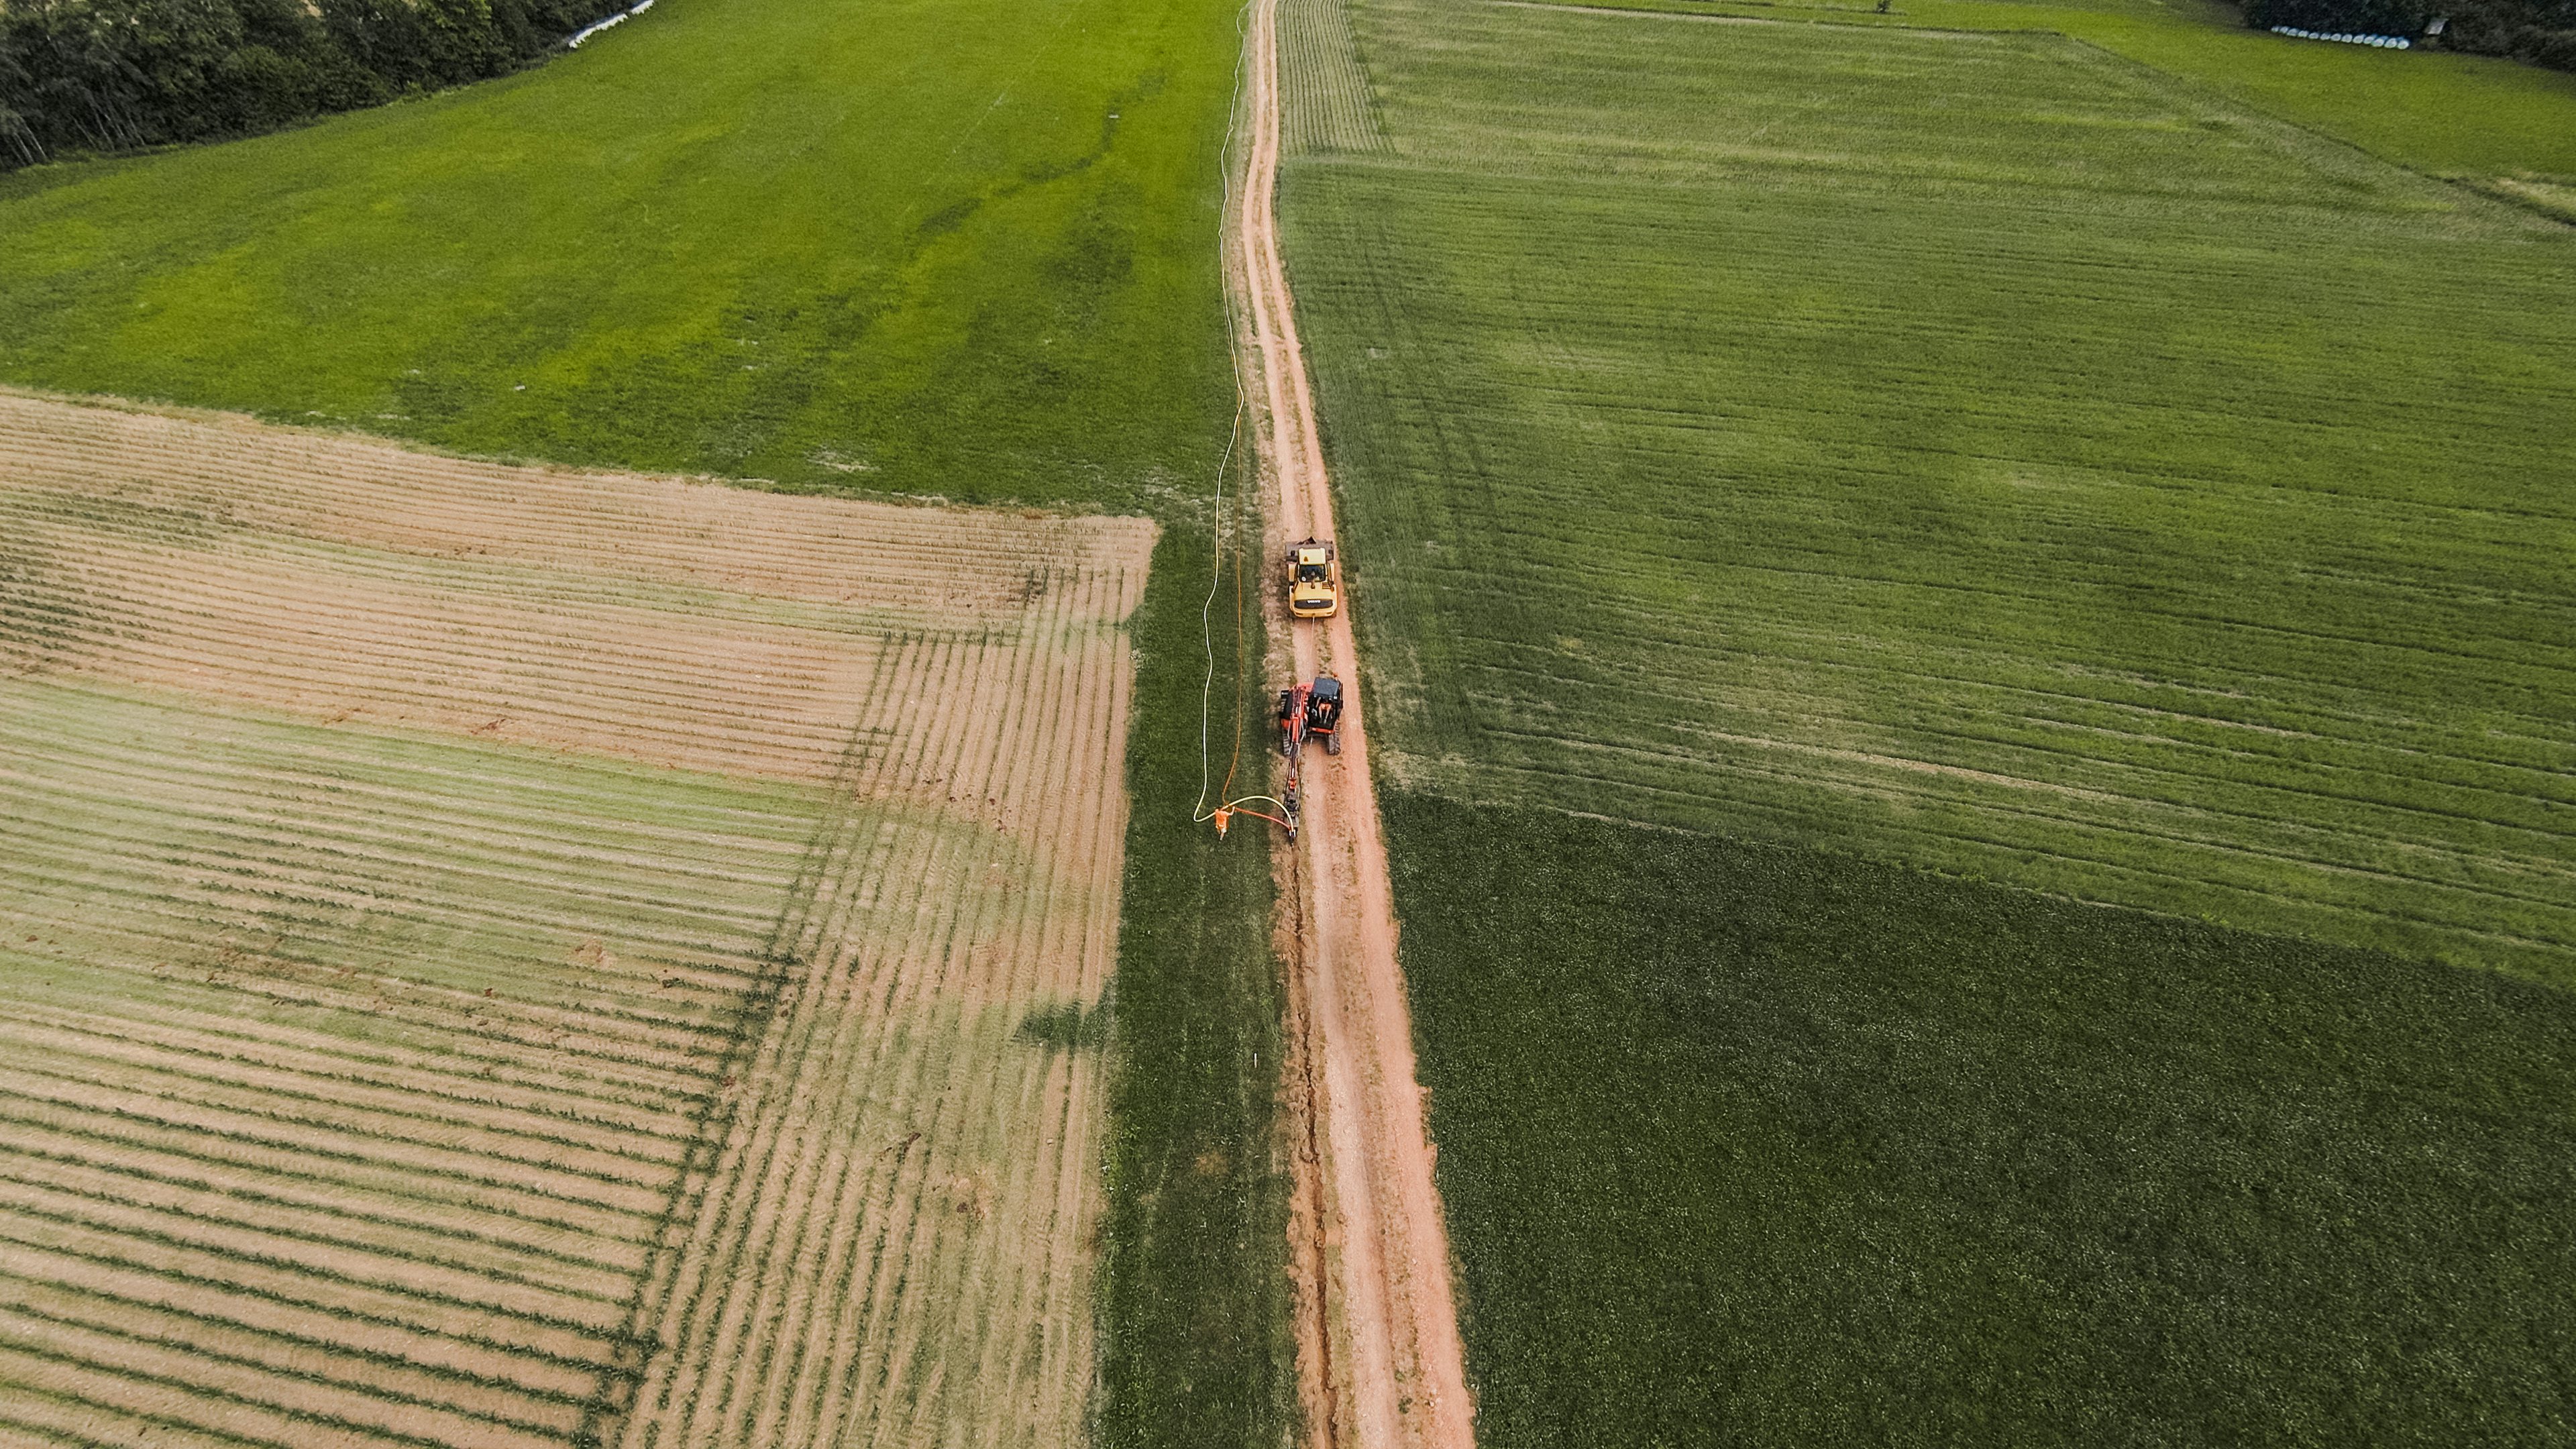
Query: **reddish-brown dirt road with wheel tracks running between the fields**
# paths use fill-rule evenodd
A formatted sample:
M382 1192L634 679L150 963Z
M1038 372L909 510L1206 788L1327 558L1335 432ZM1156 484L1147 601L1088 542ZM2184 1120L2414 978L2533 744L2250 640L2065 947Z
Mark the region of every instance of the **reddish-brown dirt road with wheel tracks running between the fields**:
M1247 147L1234 284L1244 299L1247 387L1265 413L1275 485L1267 557L1332 536L1332 490L1280 268L1273 188L1280 155L1278 0L1252 0ZM1267 578L1267 575L1265 575ZM1365 603L1360 603L1365 608ZM1288 900L1298 1060L1298 1377L1316 1449L1468 1449L1473 1403L1458 1346L1448 1227L1414 1083L1414 1039L1396 967L1396 913L1368 776L1368 714L1347 608L1293 624L1273 590L1273 629L1296 678L1350 683L1342 755L1309 750L1306 828Z

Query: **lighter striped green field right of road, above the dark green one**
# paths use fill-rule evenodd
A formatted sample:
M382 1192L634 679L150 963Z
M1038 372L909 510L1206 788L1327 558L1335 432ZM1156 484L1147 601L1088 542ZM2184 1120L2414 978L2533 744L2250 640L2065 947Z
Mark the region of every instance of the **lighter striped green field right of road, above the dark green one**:
M2576 232L2053 36L1352 18L1401 781L2576 980Z

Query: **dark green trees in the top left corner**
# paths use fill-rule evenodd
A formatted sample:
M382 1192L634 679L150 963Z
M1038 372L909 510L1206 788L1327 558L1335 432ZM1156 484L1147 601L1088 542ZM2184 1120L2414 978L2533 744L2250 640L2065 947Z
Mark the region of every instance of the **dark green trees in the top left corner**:
M0 0L0 170L484 80L626 3Z

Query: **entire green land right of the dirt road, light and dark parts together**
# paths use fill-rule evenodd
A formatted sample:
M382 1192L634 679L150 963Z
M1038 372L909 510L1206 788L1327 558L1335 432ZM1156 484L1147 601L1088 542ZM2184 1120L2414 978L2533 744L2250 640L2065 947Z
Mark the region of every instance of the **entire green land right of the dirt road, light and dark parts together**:
M1479 1441L2566 1439L2558 77L1288 34Z

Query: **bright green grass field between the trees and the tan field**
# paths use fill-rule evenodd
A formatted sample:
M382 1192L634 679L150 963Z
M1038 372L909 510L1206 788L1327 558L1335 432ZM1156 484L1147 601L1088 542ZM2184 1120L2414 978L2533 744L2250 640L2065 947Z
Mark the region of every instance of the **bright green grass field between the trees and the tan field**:
M1133 500L1231 405L1231 10L690 0L304 131L0 180L0 376L479 454ZM1213 449L1208 449L1213 456Z

